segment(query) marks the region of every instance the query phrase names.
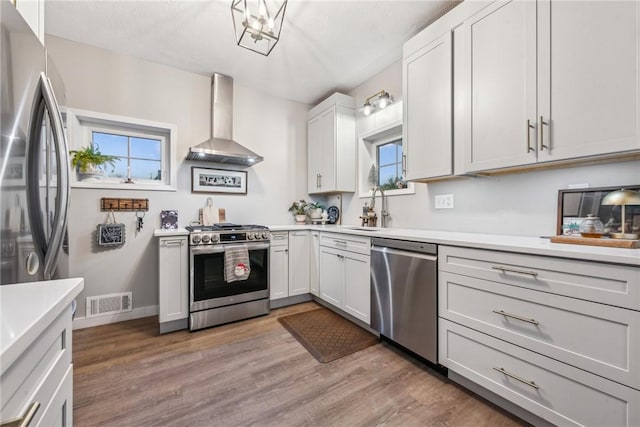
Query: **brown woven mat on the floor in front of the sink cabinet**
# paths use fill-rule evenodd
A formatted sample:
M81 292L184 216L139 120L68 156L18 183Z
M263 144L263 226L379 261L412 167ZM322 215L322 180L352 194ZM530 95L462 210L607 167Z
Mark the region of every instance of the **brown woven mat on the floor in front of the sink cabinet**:
M326 308L278 318L291 335L327 363L372 346L378 338Z

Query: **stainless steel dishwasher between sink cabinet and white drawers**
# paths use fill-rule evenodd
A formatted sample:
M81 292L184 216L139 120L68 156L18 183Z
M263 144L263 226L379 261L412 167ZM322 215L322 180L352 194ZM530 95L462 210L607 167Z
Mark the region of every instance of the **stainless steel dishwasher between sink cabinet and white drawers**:
M371 239L371 327L437 364L437 246Z

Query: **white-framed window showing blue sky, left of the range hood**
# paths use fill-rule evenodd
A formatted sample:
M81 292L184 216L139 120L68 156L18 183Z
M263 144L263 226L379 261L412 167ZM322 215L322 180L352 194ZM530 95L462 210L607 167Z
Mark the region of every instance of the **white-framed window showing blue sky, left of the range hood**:
M91 144L115 158L100 179L72 173L72 186L175 191L175 125L80 110L68 123L71 150Z

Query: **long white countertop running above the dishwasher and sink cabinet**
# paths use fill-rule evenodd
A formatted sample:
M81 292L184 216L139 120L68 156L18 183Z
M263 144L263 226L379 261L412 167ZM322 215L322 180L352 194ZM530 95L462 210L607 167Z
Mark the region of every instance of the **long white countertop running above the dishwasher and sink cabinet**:
M271 231L318 230L463 246L496 251L520 252L578 260L609 262L640 266L640 249L608 248L601 246L551 243L548 238L503 234L461 233L411 228L368 228L351 225L280 225L269 226ZM640 273L639 273L640 274Z

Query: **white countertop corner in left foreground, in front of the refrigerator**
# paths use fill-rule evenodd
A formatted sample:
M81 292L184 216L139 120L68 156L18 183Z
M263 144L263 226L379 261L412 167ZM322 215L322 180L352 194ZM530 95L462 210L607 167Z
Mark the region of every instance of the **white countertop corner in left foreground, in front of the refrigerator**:
M83 288L83 278L0 286L2 373L71 304Z

